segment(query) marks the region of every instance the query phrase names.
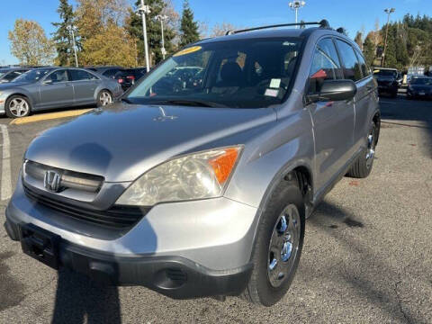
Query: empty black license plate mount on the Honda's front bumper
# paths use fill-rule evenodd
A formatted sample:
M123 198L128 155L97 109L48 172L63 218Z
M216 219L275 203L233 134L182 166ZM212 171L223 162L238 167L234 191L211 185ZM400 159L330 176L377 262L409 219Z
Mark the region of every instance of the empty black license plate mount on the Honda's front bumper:
M58 244L60 237L33 224L20 228L20 240L23 252L41 263L58 269Z

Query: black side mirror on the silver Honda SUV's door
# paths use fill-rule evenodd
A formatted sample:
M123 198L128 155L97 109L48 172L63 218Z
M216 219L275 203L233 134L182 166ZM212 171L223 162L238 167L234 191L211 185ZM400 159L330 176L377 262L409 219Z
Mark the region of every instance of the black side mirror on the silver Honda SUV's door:
M320 94L308 94L310 102L342 101L354 98L357 87L352 80L325 80L321 85Z

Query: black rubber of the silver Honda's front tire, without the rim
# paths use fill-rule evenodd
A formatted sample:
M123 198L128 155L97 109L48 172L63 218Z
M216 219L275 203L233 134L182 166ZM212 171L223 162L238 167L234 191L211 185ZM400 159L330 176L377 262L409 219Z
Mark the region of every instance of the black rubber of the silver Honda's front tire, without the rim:
M286 208L293 208L293 206L297 209L299 216L298 220L300 220L300 223L297 221L292 222L293 224L300 226L300 229L298 229L297 226L294 225L294 228L298 230L298 235L296 235L298 244L296 246L293 245L293 250L290 249L291 252L289 259L286 261L280 259L279 262L282 267L286 266L286 269L283 268L286 270L286 275L281 279L280 285L275 287L274 284L271 283L270 279L271 270L269 270L269 257L272 253L270 243L275 230L277 229L277 223L278 220L280 220L281 214L283 214L283 211L285 211ZM276 186L274 193L266 205L265 211L263 211L263 214L261 215L257 229L257 239L252 255L254 270L250 277L250 281L247 284L247 288L242 294L244 299L248 302L253 302L263 306L272 306L284 297L293 282L297 266L299 265L303 247L304 225L305 208L303 197L297 177L292 175L291 180L284 180L281 184ZM295 251L294 255L293 251ZM282 252L283 250L281 249L279 256L281 258ZM291 259L291 257L293 257L293 259Z

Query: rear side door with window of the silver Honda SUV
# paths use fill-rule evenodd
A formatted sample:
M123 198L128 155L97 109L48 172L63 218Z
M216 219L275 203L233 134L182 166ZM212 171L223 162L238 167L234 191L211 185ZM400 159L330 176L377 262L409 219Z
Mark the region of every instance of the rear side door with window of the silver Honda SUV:
M366 67L363 56L344 40L336 40L338 51L344 66L346 78L356 82L355 98L356 123L354 128L354 146L352 153L365 146L367 132L370 128L368 110L374 92L374 79Z

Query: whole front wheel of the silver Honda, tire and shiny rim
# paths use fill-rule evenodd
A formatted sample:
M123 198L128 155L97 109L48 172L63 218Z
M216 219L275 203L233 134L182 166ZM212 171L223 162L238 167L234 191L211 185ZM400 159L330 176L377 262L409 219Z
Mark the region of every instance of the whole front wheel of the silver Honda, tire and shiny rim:
M296 176L279 184L263 212L252 262L254 270L243 297L272 306L290 288L299 265L305 210Z

